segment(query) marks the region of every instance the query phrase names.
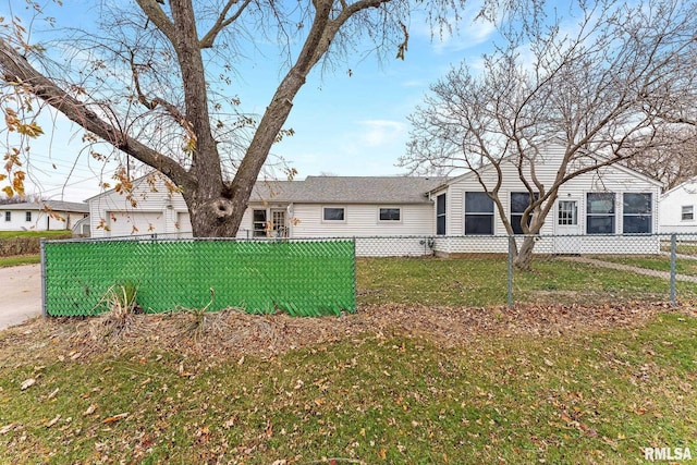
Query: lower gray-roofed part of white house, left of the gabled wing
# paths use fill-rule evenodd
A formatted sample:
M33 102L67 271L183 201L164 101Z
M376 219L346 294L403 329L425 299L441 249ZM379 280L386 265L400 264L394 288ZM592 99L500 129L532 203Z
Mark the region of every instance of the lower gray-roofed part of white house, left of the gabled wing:
M237 237L432 235L436 218L428 192L442 182L406 176L258 182ZM184 198L161 181L135 180L131 198L114 189L89 198L91 236L191 235Z

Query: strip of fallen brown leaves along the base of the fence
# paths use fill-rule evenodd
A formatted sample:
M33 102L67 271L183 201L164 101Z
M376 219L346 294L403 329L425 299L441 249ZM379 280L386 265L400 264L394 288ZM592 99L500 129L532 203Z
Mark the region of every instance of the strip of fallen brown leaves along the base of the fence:
M98 354L174 351L184 356L220 359L284 352L369 334L409 335L443 346L457 346L478 338L563 335L585 331L640 326L660 313L697 315L695 306L678 309L668 304L517 305L515 308L449 308L380 305L341 317L294 318L184 311L168 315L109 315L89 319L40 318L0 332L0 352L7 363L45 357L83 357Z

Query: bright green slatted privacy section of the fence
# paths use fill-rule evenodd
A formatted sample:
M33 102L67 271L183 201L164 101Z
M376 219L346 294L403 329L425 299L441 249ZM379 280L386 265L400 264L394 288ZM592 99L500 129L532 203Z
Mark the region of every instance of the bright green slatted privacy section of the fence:
M355 244L328 241L46 241L44 314L108 309L114 285L137 287L146 313L176 308L294 316L355 311Z

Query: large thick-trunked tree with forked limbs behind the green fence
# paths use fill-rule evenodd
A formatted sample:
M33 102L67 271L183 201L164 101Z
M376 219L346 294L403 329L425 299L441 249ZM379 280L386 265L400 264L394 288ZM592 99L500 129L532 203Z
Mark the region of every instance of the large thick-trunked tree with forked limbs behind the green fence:
M367 41L404 58L417 8L438 30L464 0L136 0L120 10L120 2L99 3L96 26L60 29L60 47L33 44L27 25L5 20L0 79L8 129L40 136L36 110L51 106L87 131L87 144L107 142L169 178L194 235L231 236L272 145L292 133L283 125L308 73ZM240 110L231 91L257 40L278 44L281 53L280 83L260 118ZM8 150L8 174L0 174L9 195L23 189L23 150ZM125 170L118 185L129 188Z

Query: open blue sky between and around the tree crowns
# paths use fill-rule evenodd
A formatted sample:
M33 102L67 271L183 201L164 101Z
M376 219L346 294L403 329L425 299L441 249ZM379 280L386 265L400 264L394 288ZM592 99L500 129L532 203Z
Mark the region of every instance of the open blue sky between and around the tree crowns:
M65 3L54 9L58 26L85 21L82 8L89 2ZM0 14L8 12L0 9ZM295 135L277 144L272 152L298 171L297 179L318 174L403 174L404 169L395 163L404 154L408 136L406 117L451 64L463 59L475 64L490 49L493 28L473 24L472 17L465 14L460 33L442 41L431 40L430 30L414 22L404 61L388 58L380 64L375 56L352 56L333 72L321 75L314 71L295 98L286 123ZM234 94L242 97L245 111L260 113L276 89L278 66L272 68L276 63L269 58L259 57L252 68L241 71L242 79ZM109 170L114 166L103 167L85 154L77 157L83 148L83 132L61 117L53 131L47 120L42 124L47 135L33 144L27 193L72 201L98 194L96 175L106 170L105 181L109 181Z

